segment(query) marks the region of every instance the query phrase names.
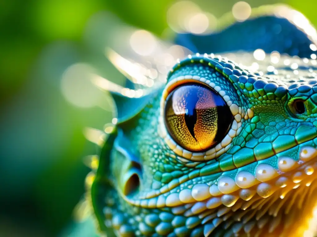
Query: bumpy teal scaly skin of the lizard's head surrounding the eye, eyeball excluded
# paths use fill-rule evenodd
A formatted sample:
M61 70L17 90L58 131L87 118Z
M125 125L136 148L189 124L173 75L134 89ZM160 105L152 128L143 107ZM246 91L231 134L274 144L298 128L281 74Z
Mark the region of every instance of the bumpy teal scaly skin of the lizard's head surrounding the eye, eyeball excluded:
M317 195L316 61L271 58L196 54L149 95L133 101L114 95L126 113L119 112L89 188L101 232L301 236ZM252 63L258 71L249 70ZM179 146L164 123L167 95L187 82L213 88L234 116L223 140L204 152Z

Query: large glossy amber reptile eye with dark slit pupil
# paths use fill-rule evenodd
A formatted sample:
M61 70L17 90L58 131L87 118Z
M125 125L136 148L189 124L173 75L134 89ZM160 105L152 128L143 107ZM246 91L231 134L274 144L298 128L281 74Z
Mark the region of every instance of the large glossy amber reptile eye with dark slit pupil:
M165 124L183 148L203 151L221 142L230 129L232 113L223 98L201 84L184 84L166 98Z

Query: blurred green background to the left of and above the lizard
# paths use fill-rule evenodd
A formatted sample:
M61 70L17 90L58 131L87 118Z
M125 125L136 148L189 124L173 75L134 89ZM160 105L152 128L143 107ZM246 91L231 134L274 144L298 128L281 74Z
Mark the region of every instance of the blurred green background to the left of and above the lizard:
M175 1L30 0L0 1L0 236L57 236L70 225L84 193L89 169L82 157L94 154L84 127L102 129L112 119L111 103L76 107L61 93L64 70L94 62L83 35L89 19L111 12L123 22L165 37L166 12ZM236 1L193 1L216 17ZM277 3L247 1L251 7ZM284 0L317 25L314 1ZM104 32L112 27L105 22ZM111 37L108 36L108 37ZM103 56L104 57L104 56ZM108 73L116 80L118 72ZM80 94L78 96L81 96ZM87 96L87 95L85 95Z

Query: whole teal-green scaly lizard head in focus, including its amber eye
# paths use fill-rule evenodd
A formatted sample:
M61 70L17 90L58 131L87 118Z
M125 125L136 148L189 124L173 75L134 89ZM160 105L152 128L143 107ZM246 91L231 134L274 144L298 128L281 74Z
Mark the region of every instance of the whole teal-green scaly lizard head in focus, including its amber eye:
M106 143L110 162L100 163L92 189L101 229L290 233L314 195L316 83L286 85L208 55L176 64Z

